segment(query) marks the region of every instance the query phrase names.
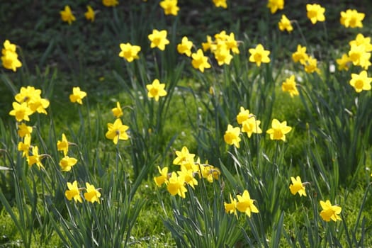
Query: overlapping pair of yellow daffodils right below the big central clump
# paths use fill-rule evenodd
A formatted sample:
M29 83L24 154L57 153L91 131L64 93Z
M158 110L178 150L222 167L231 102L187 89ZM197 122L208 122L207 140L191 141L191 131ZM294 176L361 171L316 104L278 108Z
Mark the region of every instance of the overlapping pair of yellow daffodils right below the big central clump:
M226 213L233 213L237 216L237 210L240 213L245 213L248 217L251 217L252 213L259 213L259 209L254 205L254 199L251 199L249 192L244 190L242 195L237 195L236 198L232 198L230 194L230 203L224 203Z

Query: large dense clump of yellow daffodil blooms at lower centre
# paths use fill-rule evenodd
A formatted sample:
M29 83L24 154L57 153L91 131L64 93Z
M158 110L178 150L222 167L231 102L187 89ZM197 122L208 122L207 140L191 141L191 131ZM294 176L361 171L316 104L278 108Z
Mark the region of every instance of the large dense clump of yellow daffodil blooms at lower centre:
M173 164L179 166L179 171L169 172L168 167L163 169L158 167L160 176L154 177L155 184L157 186L167 185L167 190L172 196L179 195L181 198L186 198L186 185L191 188L198 185L196 175L212 183L214 180L218 180L221 174L220 169L213 167L213 165L201 164L200 159L195 161L195 154L190 153L187 147L176 151L176 156Z

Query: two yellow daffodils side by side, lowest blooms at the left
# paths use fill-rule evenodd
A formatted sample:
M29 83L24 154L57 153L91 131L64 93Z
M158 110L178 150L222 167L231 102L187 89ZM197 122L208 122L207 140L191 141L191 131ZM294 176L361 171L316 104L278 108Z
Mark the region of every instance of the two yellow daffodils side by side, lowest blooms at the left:
M72 183L67 182L67 191L64 192L64 196L69 201L72 201L74 199L75 203L79 201L79 203L82 203L83 200L81 198L80 192L85 190L86 192L84 193L84 199L86 201L89 201L91 203L97 202L98 204L101 203L100 197L101 197L101 192L99 192L100 188L94 187L94 185L85 183L86 188L79 188L77 185L77 181L73 181Z

